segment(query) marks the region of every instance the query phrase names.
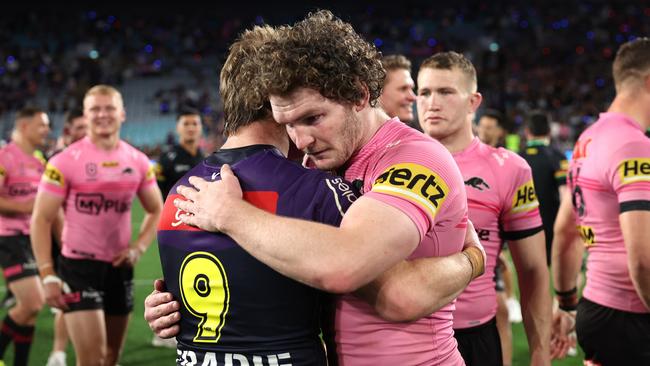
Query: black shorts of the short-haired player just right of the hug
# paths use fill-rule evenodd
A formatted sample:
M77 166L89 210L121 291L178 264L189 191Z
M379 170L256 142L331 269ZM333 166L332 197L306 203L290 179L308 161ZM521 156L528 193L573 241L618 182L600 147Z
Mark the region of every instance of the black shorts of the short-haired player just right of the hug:
M454 329L454 337L467 366L503 365L496 317L476 327Z

